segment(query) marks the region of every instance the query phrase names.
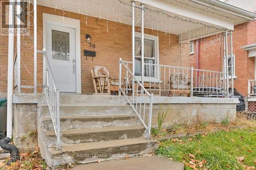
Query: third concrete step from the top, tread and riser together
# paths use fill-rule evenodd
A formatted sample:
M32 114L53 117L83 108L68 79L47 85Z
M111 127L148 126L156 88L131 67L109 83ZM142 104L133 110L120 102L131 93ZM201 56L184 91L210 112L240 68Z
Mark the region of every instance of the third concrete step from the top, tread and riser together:
M108 140L132 139L143 137L144 126L123 126L123 127L104 127L90 129L70 129L61 131L62 145L97 142ZM46 141L49 148L53 148L56 143L54 131L46 131Z

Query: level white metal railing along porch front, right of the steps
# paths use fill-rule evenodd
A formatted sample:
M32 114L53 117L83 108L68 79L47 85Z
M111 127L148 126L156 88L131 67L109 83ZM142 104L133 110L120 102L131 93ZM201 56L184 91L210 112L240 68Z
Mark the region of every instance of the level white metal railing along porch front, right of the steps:
M132 64L131 62L126 62ZM144 88L165 96L227 97L230 84L221 71L144 63ZM135 75L141 81L141 75Z

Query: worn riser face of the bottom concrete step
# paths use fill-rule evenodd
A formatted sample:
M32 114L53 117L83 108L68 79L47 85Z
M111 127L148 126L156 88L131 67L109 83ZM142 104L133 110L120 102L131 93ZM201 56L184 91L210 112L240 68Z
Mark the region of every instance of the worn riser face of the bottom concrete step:
M65 155L52 155L52 164L59 163L60 161L67 163L71 158L77 164L105 161L110 159L122 159L131 157L131 155L152 153L155 152L157 148L157 142L148 142L132 145L122 145L112 148L66 152Z

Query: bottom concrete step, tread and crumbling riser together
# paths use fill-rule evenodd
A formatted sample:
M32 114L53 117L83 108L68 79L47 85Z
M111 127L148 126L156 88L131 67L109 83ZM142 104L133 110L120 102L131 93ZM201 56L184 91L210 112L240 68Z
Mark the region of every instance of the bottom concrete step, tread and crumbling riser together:
M58 151L54 148L49 149L50 155L47 161L51 166L72 161L77 164L90 163L151 153L157 148L156 140L144 138L76 143L63 146L62 150Z

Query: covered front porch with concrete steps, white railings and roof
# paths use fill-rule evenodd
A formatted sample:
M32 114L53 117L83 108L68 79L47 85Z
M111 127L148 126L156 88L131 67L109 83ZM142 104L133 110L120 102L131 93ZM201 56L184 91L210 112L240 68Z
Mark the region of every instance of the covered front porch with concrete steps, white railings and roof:
M51 166L63 163L60 157L65 157L65 152L99 151L102 148L97 148L99 143L95 142L101 140L106 143L104 149L113 147L118 153L128 152L120 151L125 144L141 147L131 154L154 150L155 141L137 141L134 136L150 138L151 127L157 126L161 109L169 112L165 126L193 124L199 119L221 122L226 117L230 120L236 117L238 100L233 98L233 90L228 90L233 88L230 69L233 67L228 64L232 64L228 56L232 56L234 25L230 20L240 21L241 17L229 13L226 16L229 19L225 19L214 9L202 12L201 5L194 2L88 1L84 4L78 1L76 4L80 5L74 6L70 2L34 1L31 4L34 24L29 27L29 33L33 37L17 34L14 85L12 76L8 77L11 104L7 134L12 136L14 105L14 119L20 120L15 122L14 137L22 145L20 136L28 132L20 132L19 124L30 127L22 115L31 113L28 117L34 116L38 124L31 124L32 128L28 129L38 131L38 143ZM220 43L223 42L225 67L220 70L191 67L189 48L194 51L194 46L190 47L190 41L218 33L223 33ZM63 34L68 38L64 39ZM13 44L14 36L9 35L10 58ZM91 72L97 65L109 71L101 75L102 84L100 78L96 82L103 89L100 92L110 86L105 83L107 79L115 77L118 95L87 95L97 90ZM9 67L10 73L12 61ZM137 134L134 125L140 126L141 134ZM73 131L77 136L95 133L98 137L104 132L118 131L120 136L68 140ZM125 137L126 131L132 135ZM117 141L117 145L111 145L119 137L125 144ZM92 148L84 147L85 142L92 142ZM81 146L83 150L78 149ZM66 155L65 159L70 161L72 157ZM97 160L101 158L77 159L79 163Z

